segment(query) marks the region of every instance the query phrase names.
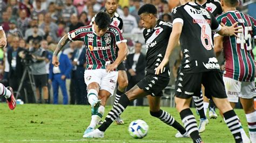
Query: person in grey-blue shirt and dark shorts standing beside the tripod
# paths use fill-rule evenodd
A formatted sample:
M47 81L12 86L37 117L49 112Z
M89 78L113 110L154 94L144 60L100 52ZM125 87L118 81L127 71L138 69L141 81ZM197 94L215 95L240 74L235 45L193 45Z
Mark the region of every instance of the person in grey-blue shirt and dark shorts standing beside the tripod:
M40 47L40 41L34 40L32 43L32 47L29 49L32 54L32 61L31 64L31 74L35 78L36 83L36 94L37 94L37 103L42 103L41 100L41 93L39 92L39 88L43 90L43 99L44 103L48 103L48 86L47 86L47 74L46 74L46 51Z

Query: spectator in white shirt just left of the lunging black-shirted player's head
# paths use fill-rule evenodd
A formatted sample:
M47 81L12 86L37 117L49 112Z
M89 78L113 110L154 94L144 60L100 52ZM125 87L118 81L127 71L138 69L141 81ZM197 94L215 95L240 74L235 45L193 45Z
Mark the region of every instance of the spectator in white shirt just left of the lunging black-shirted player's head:
M124 7L124 17L123 17L123 32L131 33L132 28L137 28L138 24L136 18L129 13L129 8L127 6Z

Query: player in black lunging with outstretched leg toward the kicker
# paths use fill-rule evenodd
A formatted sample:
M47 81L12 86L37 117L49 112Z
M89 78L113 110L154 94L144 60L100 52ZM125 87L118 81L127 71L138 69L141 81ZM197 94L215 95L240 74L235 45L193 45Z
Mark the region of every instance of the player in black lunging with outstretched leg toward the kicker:
M146 54L146 76L137 83L132 89L122 94L117 105L113 106L105 121L95 131L85 134L84 138L103 138L104 132L111 123L124 112L130 101L138 97L147 96L150 105L150 115L159 118L165 124L176 128L180 133L176 137L188 137L183 126L181 126L168 112L160 109L160 100L163 96L162 90L170 80L169 65L165 66L165 71L160 75L154 74L154 69L159 65L165 54L166 46L172 31L172 24L165 23L157 19L157 9L152 4L143 5L138 15L145 27L143 35L147 47Z

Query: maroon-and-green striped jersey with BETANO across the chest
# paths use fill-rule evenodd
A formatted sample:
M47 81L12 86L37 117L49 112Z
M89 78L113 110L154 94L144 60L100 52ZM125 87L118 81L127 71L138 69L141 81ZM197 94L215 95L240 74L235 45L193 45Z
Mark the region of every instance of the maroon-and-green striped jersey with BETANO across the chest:
M106 69L116 60L116 44L126 42L119 28L110 25L103 37L98 37L93 25L79 27L68 33L72 41L83 41L86 45L86 70Z

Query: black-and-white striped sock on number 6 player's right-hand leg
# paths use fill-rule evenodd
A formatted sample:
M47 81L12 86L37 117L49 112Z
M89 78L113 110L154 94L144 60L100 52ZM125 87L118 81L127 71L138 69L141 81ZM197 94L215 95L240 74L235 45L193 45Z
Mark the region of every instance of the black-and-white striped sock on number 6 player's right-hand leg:
M242 142L239 119L234 110L223 113L227 127L230 128L231 133L234 136L235 142Z

